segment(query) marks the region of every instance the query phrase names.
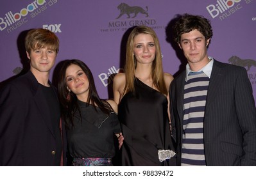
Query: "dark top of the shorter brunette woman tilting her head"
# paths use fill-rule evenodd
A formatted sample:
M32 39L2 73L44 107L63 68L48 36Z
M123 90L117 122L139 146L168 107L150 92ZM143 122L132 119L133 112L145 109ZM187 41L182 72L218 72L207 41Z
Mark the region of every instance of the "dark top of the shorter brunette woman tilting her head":
M115 134L121 132L117 114L109 116L96 107L78 100L78 111L74 114L74 127L67 130L68 148L73 158L112 158L115 155Z

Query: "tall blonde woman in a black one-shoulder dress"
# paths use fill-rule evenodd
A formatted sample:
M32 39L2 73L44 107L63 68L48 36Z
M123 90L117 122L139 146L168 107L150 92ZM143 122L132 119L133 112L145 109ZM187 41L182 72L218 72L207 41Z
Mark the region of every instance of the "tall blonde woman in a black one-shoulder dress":
M155 31L135 27L126 44L125 72L115 75L113 84L124 136L123 166L176 165L168 112L172 80L163 72Z

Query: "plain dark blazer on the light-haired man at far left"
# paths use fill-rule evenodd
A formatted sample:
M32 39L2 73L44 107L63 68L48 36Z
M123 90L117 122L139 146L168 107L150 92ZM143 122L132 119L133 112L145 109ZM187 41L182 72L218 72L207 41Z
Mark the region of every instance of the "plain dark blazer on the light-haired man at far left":
M56 140L50 115L39 83L31 72L1 89L0 166L55 165Z

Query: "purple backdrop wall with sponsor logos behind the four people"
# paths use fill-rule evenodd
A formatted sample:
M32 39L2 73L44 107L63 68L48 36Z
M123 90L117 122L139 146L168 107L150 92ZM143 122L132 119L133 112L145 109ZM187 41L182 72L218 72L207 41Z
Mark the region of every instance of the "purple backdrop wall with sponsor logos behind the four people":
M121 3L143 10L135 17L134 13L128 13L129 18L127 14L120 15L123 10L123 6L119 6ZM209 56L241 66L248 62L244 67L251 66L248 77L256 98L256 1L253 0L2 0L0 82L26 67L22 35L24 31L37 27L50 29L60 38L60 52L51 79L55 81L53 77L60 61L81 59L92 70L101 98L112 97L112 78L109 76L123 68L127 30L135 25L155 29L164 56L164 71L177 74L181 59L166 40L166 27L180 13L203 15L211 20L214 36Z

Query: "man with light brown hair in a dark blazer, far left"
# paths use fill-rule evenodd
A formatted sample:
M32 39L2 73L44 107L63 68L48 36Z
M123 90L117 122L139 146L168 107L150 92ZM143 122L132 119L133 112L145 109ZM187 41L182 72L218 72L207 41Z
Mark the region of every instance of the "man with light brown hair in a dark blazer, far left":
M49 81L59 41L47 29L32 29L25 47L30 71L0 91L0 166L60 166L60 108Z

